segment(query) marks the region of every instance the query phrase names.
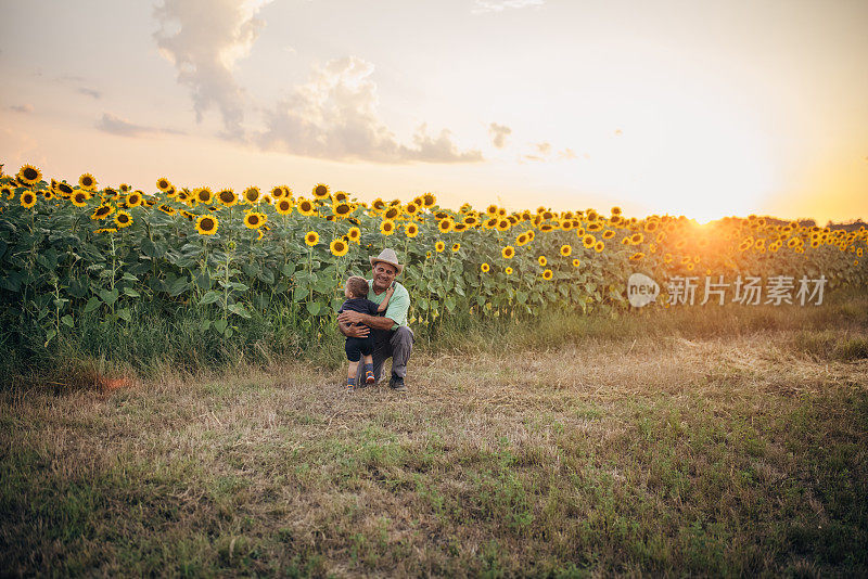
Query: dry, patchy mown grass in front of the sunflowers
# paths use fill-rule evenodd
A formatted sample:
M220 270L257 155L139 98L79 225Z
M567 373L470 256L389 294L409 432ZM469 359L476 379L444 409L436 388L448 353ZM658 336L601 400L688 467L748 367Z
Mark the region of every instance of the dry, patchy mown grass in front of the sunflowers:
M868 298L700 311L419 344L405 395L316 360L12 379L0 569L868 574Z

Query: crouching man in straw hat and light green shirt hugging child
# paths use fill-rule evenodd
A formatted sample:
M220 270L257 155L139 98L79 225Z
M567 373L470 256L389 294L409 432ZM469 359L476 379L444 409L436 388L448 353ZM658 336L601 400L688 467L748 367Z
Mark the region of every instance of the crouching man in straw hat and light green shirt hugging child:
M386 247L376 257L369 257L373 268L373 279L368 280L368 299L381 304L386 290L395 283L395 293L388 301L383 316L370 316L358 311L344 311L337 317L337 327L347 337L366 337L373 332L373 374L380 381L383 362L392 358L392 378L388 386L397 391L407 390L404 378L407 376L407 361L413 349L413 333L407 325L407 310L410 308L410 294L395 278L404 271L394 249ZM356 325L356 324L363 325ZM349 325L354 324L354 325ZM367 326L367 327L366 327ZM370 330L369 330L370 329ZM356 381L360 383L359 378Z

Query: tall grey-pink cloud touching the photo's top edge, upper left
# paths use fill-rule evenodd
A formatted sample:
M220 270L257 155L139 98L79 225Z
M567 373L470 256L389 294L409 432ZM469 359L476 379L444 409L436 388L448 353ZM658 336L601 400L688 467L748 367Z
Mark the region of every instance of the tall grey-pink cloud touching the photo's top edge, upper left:
M271 0L164 0L154 9L161 54L193 97L196 120L216 107L226 137L242 139L244 91L232 69L250 54L265 22L256 13Z

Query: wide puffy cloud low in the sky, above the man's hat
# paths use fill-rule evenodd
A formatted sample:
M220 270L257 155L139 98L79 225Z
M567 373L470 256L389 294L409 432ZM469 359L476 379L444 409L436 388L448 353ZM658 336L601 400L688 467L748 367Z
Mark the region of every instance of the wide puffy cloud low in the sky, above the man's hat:
M422 124L412 145L397 141L376 113L373 65L345 56L314 69L312 78L265 113L266 130L256 141L263 149L329 158L375 163L468 163L482 160L478 151L461 152L444 129L436 137Z

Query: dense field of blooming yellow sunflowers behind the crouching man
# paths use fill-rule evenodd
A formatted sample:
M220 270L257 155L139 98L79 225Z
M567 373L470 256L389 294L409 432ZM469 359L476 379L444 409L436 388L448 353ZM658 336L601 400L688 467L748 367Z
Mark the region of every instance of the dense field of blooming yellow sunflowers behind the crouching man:
M2 342L48 348L84 322L124 329L140 313L194 320L231 339L245 324L331 331L342 282L393 247L406 263L410 323L626 309L626 280L822 274L827 290L865 283L868 232L751 216L700 226L626 217L617 207L457 210L431 193L367 204L319 183L241 192L101 186L90 173L50 182L25 165L0 178ZM665 290L664 290L665 297ZM664 307L665 299L656 306ZM278 335L273 333L272 335ZM28 346L29 345L29 346Z

